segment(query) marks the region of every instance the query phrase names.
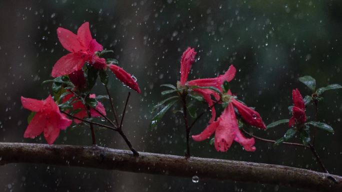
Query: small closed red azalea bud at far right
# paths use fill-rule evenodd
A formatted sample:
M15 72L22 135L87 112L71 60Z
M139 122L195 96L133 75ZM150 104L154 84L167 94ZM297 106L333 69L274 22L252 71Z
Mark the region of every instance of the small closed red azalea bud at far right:
M306 121L305 104L298 89L292 90L292 100L294 106L292 107L292 117L288 121L288 127L301 125Z

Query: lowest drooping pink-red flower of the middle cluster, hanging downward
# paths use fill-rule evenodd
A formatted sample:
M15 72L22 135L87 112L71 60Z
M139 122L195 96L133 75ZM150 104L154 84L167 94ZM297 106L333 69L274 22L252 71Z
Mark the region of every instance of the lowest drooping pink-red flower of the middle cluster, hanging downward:
M202 133L192 136L192 139L195 141L203 141L208 139L215 132L214 146L217 151L227 151L233 141L241 144L246 151L255 151L255 147L253 146L254 138L245 138L238 128L234 107L236 107L246 123L261 129L266 129L260 115L231 97L230 90L227 92L226 98L230 100L230 102L220 117L217 118L216 121L210 123Z

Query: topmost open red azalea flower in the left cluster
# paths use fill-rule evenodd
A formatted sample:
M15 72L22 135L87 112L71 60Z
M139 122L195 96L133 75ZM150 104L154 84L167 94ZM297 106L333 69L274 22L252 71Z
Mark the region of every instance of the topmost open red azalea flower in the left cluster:
M106 67L105 60L95 55L96 51L103 50L102 45L91 37L89 22L84 22L77 30L77 34L58 27L57 35L64 49L70 53L62 56L52 68L52 77L68 75L80 70L87 61L97 69Z

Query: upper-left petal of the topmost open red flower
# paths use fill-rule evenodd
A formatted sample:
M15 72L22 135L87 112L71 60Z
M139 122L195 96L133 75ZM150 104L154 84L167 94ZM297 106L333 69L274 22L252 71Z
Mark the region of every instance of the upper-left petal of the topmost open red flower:
M77 35L65 28L58 27L57 36L60 44L69 52L78 52L84 49L79 43Z

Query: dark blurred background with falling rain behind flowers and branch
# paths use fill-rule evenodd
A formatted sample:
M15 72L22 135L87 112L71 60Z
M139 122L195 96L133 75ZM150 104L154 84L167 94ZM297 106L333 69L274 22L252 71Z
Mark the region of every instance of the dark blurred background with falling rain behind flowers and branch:
M230 64L237 68L230 87L247 105L256 107L266 124L290 117L291 90L310 94L298 77L311 75L317 87L342 84L342 1L340 0L1 0L0 1L0 141L46 143L41 136L23 139L28 110L20 96L43 99L51 92L41 82L66 54L56 28L76 32L84 21L96 40L114 53L120 66L137 78L142 93L132 92L124 132L138 151L183 155L180 114L169 111L157 128L148 130L151 107L165 97L160 84L179 79L179 60L187 46L197 61L189 79L214 77ZM110 77L110 90L118 111L128 90ZM93 90L104 94L100 83ZM342 175L342 90L327 91L318 105L318 118L335 134L318 131L315 146L328 171ZM108 108L108 103L104 102ZM198 104L205 107L205 104ZM177 108L174 108L177 110ZM218 114L219 114L218 109ZM209 115L209 114L208 114ZM193 134L206 126L208 115L196 123ZM313 106L307 107L313 120ZM286 125L255 135L277 139ZM96 132L97 143L127 149L108 130ZM299 142L298 139L293 139ZM87 127L68 128L55 144L91 145ZM256 141L255 152L234 143L218 153L208 140L191 143L197 157L285 165L321 171L308 149ZM0 158L1 159L1 158ZM296 192L294 188L229 181L153 176L74 167L11 164L0 167L4 192Z

